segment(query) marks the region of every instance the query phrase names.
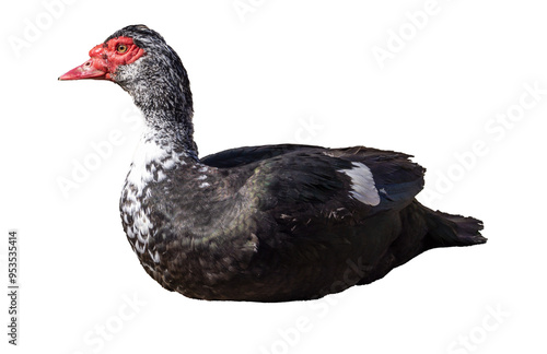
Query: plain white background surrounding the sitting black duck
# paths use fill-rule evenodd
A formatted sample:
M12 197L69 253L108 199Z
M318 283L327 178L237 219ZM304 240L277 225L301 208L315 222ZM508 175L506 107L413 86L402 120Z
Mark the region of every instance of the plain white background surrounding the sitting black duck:
M13 347L2 296L2 353L545 351L546 10L532 0L4 2L0 233L20 232L21 316ZM163 290L120 226L140 121L130 97L110 82L57 81L137 23L189 72L201 155L281 142L406 152L428 168L419 199L484 220L488 244L426 252L313 303ZM497 118L508 111L513 120ZM105 144L97 160L93 146ZM84 163L93 170L63 192L59 180Z

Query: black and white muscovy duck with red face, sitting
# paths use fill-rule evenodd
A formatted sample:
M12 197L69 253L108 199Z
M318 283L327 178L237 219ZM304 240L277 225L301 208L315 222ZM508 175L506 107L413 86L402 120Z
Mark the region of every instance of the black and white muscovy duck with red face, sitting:
M170 291L313 299L371 283L431 248L486 243L480 221L415 199L424 169L403 153L281 144L199 158L186 70L144 25L117 31L90 57L59 80L113 81L142 110L120 215L144 270Z

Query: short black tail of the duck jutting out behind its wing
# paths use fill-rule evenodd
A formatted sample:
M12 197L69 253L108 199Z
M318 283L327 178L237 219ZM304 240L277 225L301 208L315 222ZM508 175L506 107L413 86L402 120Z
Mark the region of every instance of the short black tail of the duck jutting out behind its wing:
M484 227L482 222L475 217L453 215L428 209L426 222L428 225L426 243L429 248L472 246L487 241L487 238L480 235Z

